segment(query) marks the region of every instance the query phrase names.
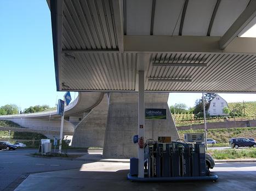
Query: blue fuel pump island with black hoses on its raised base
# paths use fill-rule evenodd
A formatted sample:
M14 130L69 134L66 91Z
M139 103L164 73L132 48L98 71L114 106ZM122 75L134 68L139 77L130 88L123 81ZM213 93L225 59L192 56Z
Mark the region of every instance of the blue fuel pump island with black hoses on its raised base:
M144 178L138 177L138 159L130 159L128 179L138 182L215 181L206 169L204 144L172 141L146 144L144 153Z

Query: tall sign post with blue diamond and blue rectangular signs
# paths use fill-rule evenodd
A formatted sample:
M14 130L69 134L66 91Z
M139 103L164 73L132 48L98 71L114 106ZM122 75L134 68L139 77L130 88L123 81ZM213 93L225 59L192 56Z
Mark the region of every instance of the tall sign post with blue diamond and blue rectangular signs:
M62 143L62 134L63 134L63 125L64 125L64 113L65 113L64 106L65 106L65 103L66 103L66 105L69 105L70 102L71 102L70 92L66 92L65 93L64 101L59 99L58 110L57 110L57 114L61 115L59 154L61 154L61 143Z

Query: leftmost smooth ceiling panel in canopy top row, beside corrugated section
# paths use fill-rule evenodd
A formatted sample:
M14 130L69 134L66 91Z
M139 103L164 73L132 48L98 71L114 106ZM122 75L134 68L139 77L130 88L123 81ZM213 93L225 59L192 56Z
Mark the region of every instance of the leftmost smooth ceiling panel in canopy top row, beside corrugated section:
M152 0L127 0L127 35L149 35Z

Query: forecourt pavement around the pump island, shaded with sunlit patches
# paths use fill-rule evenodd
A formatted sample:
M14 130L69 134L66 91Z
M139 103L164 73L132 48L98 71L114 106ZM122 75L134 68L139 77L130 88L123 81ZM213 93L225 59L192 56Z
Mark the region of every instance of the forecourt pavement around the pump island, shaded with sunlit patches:
M43 172L30 175L15 191L26 190L196 190L196 191L255 191L256 163L217 163L213 181L190 182L131 182L127 180L129 163L94 162L79 169Z

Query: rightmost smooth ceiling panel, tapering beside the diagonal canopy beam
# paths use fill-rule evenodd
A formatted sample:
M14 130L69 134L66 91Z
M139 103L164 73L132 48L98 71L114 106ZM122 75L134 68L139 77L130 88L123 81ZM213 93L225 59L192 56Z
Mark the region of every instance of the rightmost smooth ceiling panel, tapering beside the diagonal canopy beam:
M213 22L211 36L223 36L248 3L249 0L222 0Z

